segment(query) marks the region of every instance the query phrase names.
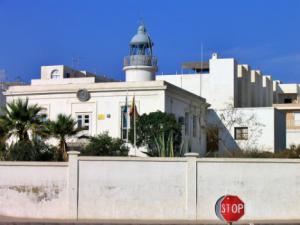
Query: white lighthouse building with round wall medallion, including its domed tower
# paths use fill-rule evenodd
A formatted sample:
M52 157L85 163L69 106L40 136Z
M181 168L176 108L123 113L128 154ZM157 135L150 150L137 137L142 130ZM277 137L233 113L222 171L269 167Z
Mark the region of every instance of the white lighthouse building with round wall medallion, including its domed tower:
M30 104L44 107L51 120L59 113L70 114L87 128L87 135L108 132L113 137L126 139L128 123L124 123L127 119L124 107L126 102L131 105L135 96L139 114L160 110L184 121L186 150L204 155L203 127L208 104L199 95L155 80L157 63L152 56L152 45L145 27L140 26L131 40L130 56L124 60L125 82L111 82L62 65L43 66L41 79L32 80L30 85L9 87L5 93L7 101L28 98Z

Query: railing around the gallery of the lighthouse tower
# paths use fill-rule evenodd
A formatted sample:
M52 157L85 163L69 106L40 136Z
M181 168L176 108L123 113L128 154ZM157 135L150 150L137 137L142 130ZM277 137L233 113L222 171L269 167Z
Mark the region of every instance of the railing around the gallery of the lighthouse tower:
M148 55L130 55L124 58L124 66L154 66L157 67L157 58Z

